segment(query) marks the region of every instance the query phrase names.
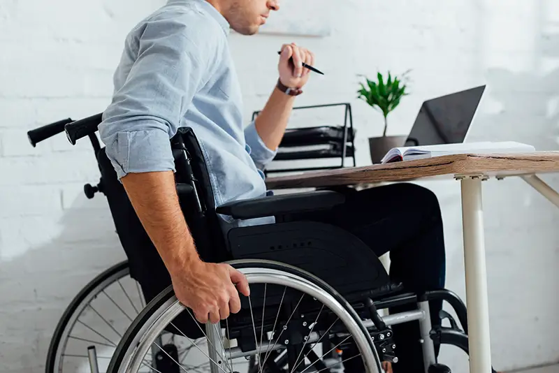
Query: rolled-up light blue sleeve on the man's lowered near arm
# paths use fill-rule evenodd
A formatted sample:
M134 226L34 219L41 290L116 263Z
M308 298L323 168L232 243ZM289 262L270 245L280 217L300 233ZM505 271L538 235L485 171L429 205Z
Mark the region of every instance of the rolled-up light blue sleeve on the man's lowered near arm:
M99 134L119 179L175 171L170 138L202 80L198 46L186 27L171 19L145 24L136 40L137 57L103 112Z

